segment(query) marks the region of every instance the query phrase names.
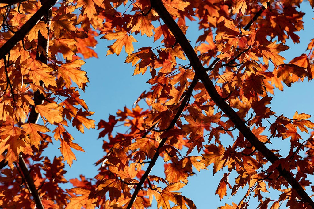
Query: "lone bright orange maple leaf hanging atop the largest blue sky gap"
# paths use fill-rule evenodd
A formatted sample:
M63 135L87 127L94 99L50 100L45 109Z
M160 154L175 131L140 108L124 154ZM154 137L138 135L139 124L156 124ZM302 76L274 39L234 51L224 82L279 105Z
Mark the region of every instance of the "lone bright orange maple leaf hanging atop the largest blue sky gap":
M123 46L125 47L125 52L130 55L134 51L132 42L137 42L132 35L129 36L127 32L119 30L114 33L107 33L101 38L106 38L107 40L116 39L112 45L108 46L109 50L107 51L107 55L114 53L119 55Z

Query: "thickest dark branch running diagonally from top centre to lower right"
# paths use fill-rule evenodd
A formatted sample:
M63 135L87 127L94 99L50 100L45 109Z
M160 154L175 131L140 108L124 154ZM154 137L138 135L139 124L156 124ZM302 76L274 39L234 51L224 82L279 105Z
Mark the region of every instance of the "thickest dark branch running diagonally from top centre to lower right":
M218 94L213 82L209 79L206 69L203 67L201 61L198 59L197 54L194 52L193 47L190 42L185 37L184 33L181 31L180 27L167 12L163 3L160 0L150 1L154 10L158 13L160 18L164 21L167 27L170 29L171 33L176 38L176 41L181 45L184 53L190 61L190 64L195 70L198 78L203 82L209 96L215 102L215 104L224 111L224 113L230 118L230 120L235 124L236 128L244 135L244 137L259 151L261 152L268 161L274 163L278 161L279 158L269 150L257 137L252 133L252 131L246 126L245 122L236 114L230 105L228 105L225 100ZM285 180L292 186L293 189L299 194L300 198L314 208L313 200L308 196L302 186L290 173L282 168L281 165L277 167L280 175L285 178Z

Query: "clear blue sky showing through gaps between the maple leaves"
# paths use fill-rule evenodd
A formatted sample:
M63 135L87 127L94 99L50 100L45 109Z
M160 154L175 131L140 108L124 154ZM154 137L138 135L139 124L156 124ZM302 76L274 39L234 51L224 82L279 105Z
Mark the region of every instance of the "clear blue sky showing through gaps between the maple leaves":
M308 51L305 52L305 49L310 42L310 39L314 38L312 36L314 20L311 19L314 15L308 2L301 4L301 11L306 12L304 18L305 30L297 33L301 37L300 44L294 46L290 41L287 43L287 45L290 46L290 49L283 53L287 62L296 56L308 53ZM195 40L199 36L199 33L197 32L197 26L190 26L187 30L187 36L188 39L191 40L192 46L195 44ZM159 43L153 43L153 40L149 38L139 38L138 36L135 38L141 40L135 44L135 49L142 46L159 45ZM82 92L82 98L89 106L89 110L95 111L95 114L90 118L96 121L96 125L100 119L107 120L109 114L115 115L116 111L118 109L123 109L125 105L128 108L131 108L138 96L150 86L145 83L150 78L149 72L145 75L132 76L134 68L130 64L124 64L126 54L121 53L119 56L110 55L106 57L106 47L110 44L111 42L100 39L99 44L95 48L99 58L85 60L86 64L82 68L88 73L90 81L85 93ZM309 83L307 80L303 83L293 84L291 88L285 86L284 92L275 91L270 106L277 115L284 114L287 117L292 117L295 110L298 110L299 113L304 112L313 115L313 87L313 82ZM83 174L87 178L94 177L97 174L98 167L95 167L93 164L104 155L102 150L102 140L106 140L106 138L97 140L100 131L96 129L85 129L85 134L81 134L74 128L69 128L68 130L73 135L75 139L74 142L79 143L86 153L74 150L77 161L73 162L72 168L69 166L66 167L66 170L68 171L65 175L66 178L79 178L80 174ZM114 131L122 132L123 128L118 127ZM234 134L238 135L236 131ZM278 144L280 144L281 140L276 140L279 140ZM232 143L232 141L230 142ZM46 155L51 157L51 159L53 159L54 155L60 156L61 153L58 149L59 147L60 142L54 141L54 145L46 151ZM286 147L288 147L288 145ZM281 145L280 148L284 149L285 146ZM151 175L160 175L161 177L164 177L164 168L161 164L162 160L159 159L159 161L160 163L157 163L151 172ZM195 172L196 175L189 177L189 182L187 186L183 188L182 193L186 197L191 198L198 208L217 208L224 205L225 202L232 205L232 201L238 203L243 197L243 192L239 191L239 196L237 196L237 194L235 197L228 199L231 190L227 190L227 196L222 202L219 202L218 195L214 194L221 179L221 175L224 172L218 172L213 177L212 166L209 166L208 171L201 171L201 173L198 173L198 171ZM232 184L233 179L231 177L230 181ZM72 188L72 185L66 184L63 188ZM243 191L245 192L245 190ZM271 194L265 194L265 196L271 196ZM251 206L249 208L256 208L256 201L253 200L253 197L251 197L251 200L252 204L250 204ZM156 206L153 208L156 208Z

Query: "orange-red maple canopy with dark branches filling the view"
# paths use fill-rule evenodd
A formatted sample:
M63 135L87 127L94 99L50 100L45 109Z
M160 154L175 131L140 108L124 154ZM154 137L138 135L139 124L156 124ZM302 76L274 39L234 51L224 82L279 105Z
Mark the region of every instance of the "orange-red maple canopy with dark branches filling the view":
M274 89L313 78L314 38L302 40L307 54L287 61L280 54L288 39L300 42L301 2L0 0L0 207L194 209L180 190L213 166L222 174L220 200L244 190L220 209L247 208L252 198L260 209L314 208L311 115L271 109ZM197 43L186 37L188 24L198 25ZM151 87L132 108L98 123L99 174L65 179L73 149L84 151L68 126L95 128L79 89L89 82L81 67L97 57L99 35L111 44L103 53L125 51L125 65L151 74ZM158 46L135 49L141 36ZM127 131L116 133L118 125ZM289 154L270 149L273 140L284 140ZM49 159L43 151L52 142L60 143L60 157ZM151 172L158 158L164 176ZM274 190L279 197L265 197Z

